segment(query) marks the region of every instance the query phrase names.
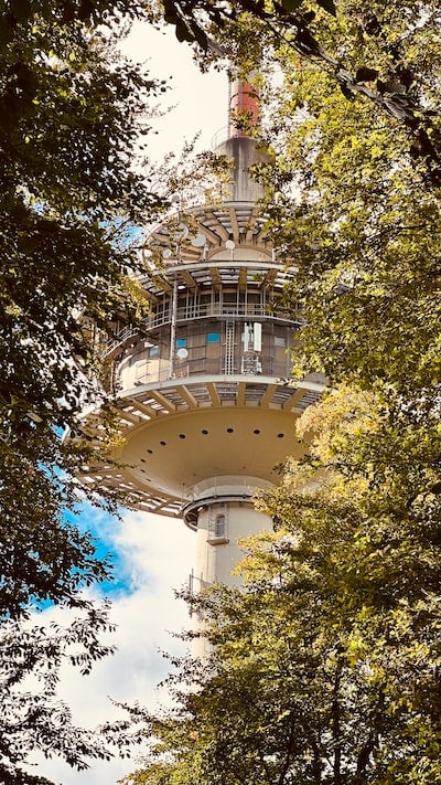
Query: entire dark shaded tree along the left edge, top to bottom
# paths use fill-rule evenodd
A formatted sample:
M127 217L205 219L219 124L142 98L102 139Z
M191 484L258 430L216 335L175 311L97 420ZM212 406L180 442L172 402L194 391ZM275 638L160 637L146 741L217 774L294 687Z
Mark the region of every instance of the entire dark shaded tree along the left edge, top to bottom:
M133 315L126 286L133 237L160 206L153 169L144 162L141 171L137 160L149 104L164 86L117 51L141 12L136 0L11 0L0 9L0 772L8 783L41 782L21 768L37 749L76 766L108 755L55 699L64 659L87 670L111 651L98 640L111 626L107 609L83 591L109 577L110 563L73 515L73 473L97 447L62 444L61 435L103 400L96 330ZM30 612L51 603L73 620L65 629L32 627ZM40 691L28 689L31 675Z

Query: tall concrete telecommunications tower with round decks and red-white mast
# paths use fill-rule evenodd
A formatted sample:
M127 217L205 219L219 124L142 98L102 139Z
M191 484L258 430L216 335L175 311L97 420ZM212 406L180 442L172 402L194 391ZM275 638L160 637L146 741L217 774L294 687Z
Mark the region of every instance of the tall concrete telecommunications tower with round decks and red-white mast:
M115 460L84 477L120 488L135 509L182 518L196 532L201 585L232 584L238 539L272 529L252 497L278 482L278 463L303 455L295 418L323 390L319 378L288 382L299 322L282 295L295 269L266 236L249 172L262 153L234 121L257 123L247 82L232 84L229 113L216 148L234 162L228 193L148 238L144 330L116 329L106 349L121 438Z

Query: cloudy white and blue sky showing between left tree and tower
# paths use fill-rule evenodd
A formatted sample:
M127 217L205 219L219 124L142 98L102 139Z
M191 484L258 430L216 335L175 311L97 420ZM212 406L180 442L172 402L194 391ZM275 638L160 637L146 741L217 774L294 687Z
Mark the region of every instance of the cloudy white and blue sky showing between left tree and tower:
M227 125L225 74L202 75L192 61L191 47L175 40L173 29L164 35L138 24L125 50L133 60L147 61L152 76L171 77L165 104L175 106L155 120L158 135L151 136L150 157L160 161L198 132L197 150L209 149L216 131ZM112 600L111 620L117 625L111 643L118 651L98 662L89 677L65 669L61 685L61 697L69 703L74 721L94 728L121 717L110 698L149 707L165 699L157 689L168 671L161 651L184 651L172 633L187 628L190 619L173 590L187 581L195 540L182 521L132 511L125 511L119 521L85 507L82 523L114 554L116 564L115 587L107 594ZM47 620L62 620L60 614L52 608L44 615ZM117 759L92 763L88 771L77 773L60 761L39 757L33 771L62 785L114 785L136 766L136 760Z

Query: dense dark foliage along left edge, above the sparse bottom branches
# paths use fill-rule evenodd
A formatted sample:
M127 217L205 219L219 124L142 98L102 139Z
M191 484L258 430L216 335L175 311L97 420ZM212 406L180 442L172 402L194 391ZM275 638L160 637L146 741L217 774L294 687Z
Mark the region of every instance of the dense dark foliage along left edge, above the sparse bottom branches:
M148 129L146 102L162 86L118 59L111 28L94 26L129 7L12 3L2 18L2 542L7 560L29 554L21 575L6 573L6 615L20 615L30 595L68 597L72 569L103 576L87 537L60 527L77 499L64 471L88 453L61 446L60 428L98 400L87 320L129 318L127 222L158 204L130 160Z

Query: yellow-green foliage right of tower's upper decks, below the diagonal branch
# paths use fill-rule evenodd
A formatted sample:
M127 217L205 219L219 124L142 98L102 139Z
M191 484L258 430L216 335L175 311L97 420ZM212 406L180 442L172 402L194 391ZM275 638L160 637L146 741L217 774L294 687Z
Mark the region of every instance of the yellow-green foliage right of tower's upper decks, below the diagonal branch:
M426 40L419 33L416 71ZM434 57L430 40L426 51ZM287 51L280 55L286 82L272 127L279 155L270 209L277 242L299 267L289 303L301 305L308 325L303 371L366 388L392 384L435 405L439 189L399 121L348 104L326 75L299 72ZM300 353L298 361L301 368Z

